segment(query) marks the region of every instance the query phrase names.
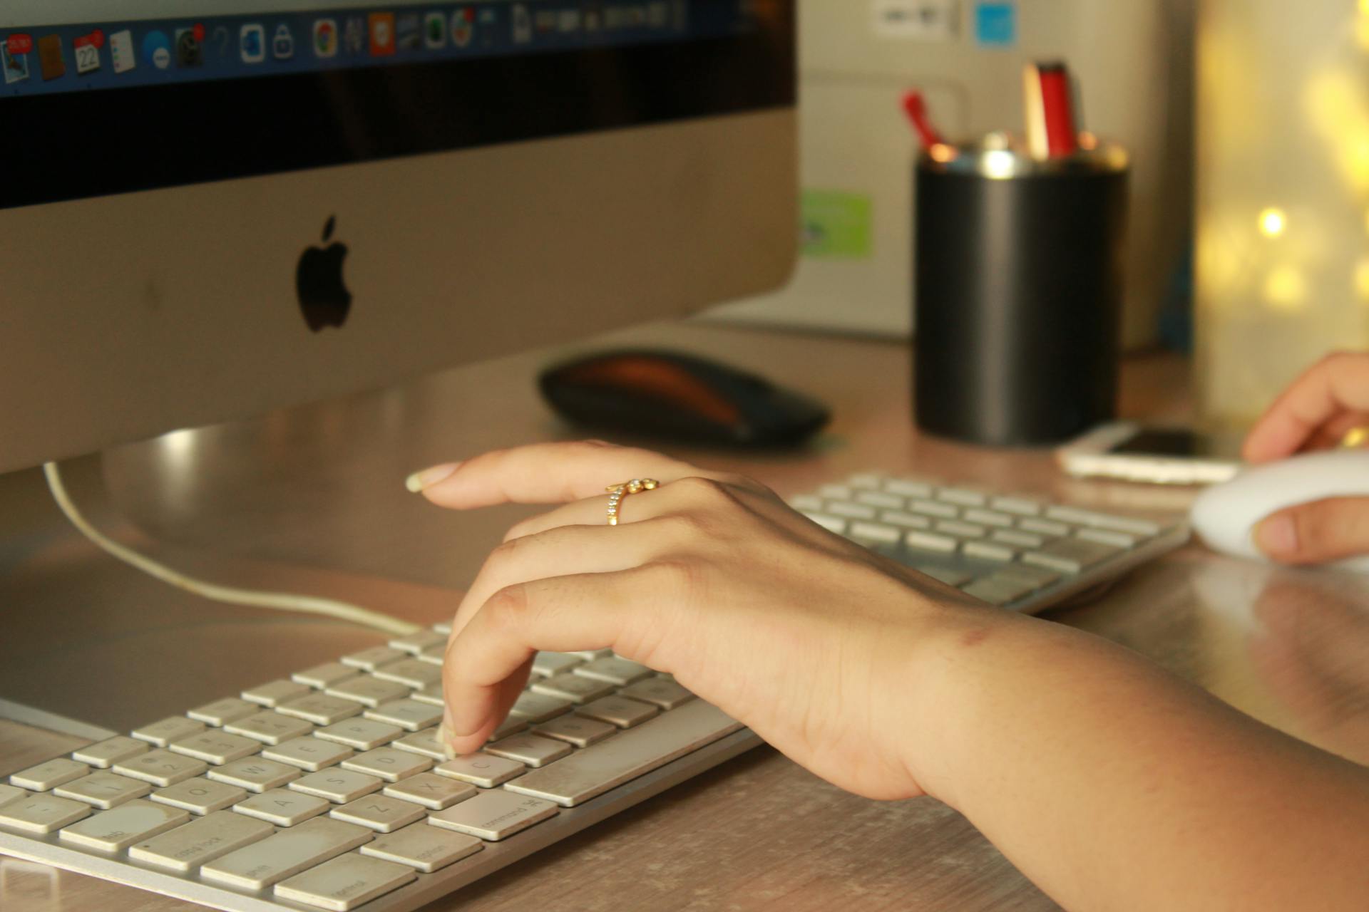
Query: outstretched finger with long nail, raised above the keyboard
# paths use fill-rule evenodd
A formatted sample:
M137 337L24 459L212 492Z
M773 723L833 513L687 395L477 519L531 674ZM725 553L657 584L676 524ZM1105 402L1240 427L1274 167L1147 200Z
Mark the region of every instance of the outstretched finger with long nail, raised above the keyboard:
M430 469L431 472L431 469ZM493 450L452 468L423 496L455 510L498 503L570 503L631 479L671 481L698 469L660 453L601 440Z

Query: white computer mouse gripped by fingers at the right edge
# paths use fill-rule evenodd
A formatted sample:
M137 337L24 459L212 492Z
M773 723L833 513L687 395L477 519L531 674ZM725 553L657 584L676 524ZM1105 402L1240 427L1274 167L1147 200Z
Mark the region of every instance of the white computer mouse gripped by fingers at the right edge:
M1329 450L1249 468L1213 485L1194 502L1194 531L1216 551L1265 559L1255 547L1255 525L1270 513L1340 496L1369 496L1369 451ZM1369 555L1328 565L1369 573Z

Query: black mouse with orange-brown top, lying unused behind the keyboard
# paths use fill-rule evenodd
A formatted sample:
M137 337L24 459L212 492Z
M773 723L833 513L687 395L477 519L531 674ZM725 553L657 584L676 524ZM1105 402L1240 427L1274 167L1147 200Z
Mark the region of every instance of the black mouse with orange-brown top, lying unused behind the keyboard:
M549 368L538 383L575 424L686 443L795 444L831 418L809 397L678 351L593 354Z

